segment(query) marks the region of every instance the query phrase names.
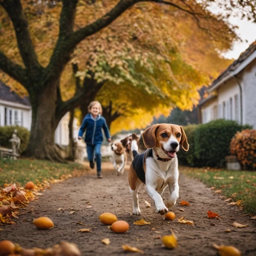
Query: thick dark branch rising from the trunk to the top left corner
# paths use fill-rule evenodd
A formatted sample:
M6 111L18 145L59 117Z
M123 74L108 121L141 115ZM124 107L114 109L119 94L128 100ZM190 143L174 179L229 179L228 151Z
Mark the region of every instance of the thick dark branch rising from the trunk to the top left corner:
M40 69L35 49L29 34L28 22L22 9L20 0L2 0L0 5L4 7L12 20L16 33L18 49L22 56L24 65L30 71L34 68Z

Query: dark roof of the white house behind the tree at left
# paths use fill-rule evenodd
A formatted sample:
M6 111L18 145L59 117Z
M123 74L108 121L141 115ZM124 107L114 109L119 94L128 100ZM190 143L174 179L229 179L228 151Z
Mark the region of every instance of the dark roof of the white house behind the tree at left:
M11 91L11 88L2 81L0 81L0 100L11 101L30 106L30 101L28 97L20 97L18 94Z

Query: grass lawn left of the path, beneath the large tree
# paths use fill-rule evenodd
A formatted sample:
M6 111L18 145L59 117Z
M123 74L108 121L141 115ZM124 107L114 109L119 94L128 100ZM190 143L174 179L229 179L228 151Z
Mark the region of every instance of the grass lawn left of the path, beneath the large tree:
M41 182L45 179L58 179L62 175L69 175L73 171L86 173L86 168L77 163L55 163L43 160L0 159L0 187L4 183L20 183L28 181Z

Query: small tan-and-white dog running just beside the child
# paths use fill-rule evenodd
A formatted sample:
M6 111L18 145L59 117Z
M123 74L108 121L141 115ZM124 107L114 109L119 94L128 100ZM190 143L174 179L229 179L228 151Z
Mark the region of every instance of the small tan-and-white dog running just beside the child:
M123 174L124 166L127 162L127 155L125 152L125 147L121 142L115 142L111 144L111 150L113 151L113 165L117 174Z

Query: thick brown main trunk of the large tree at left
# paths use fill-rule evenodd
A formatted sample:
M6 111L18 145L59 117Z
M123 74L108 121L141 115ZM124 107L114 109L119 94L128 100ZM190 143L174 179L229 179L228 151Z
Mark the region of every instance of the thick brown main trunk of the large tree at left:
M34 97L30 93L32 124L28 147L24 153L27 157L61 161L54 150L56 90L56 84L51 84Z

